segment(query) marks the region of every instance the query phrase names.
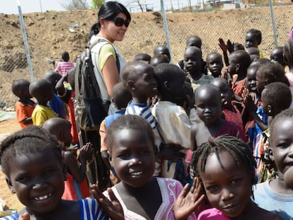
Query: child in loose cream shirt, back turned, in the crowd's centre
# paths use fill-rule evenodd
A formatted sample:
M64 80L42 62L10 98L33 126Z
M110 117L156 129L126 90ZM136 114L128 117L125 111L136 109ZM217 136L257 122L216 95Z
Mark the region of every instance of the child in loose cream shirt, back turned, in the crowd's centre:
M160 149L161 174L163 178L174 178L183 185L187 181L187 173L183 158L191 147L190 120L184 108L176 103L186 99L185 75L180 67L173 64L159 64L154 68L158 82L159 101L151 110L156 120L163 144L173 144ZM184 154L180 154L184 153ZM171 154L170 158L165 157ZM183 168L178 177L178 169Z

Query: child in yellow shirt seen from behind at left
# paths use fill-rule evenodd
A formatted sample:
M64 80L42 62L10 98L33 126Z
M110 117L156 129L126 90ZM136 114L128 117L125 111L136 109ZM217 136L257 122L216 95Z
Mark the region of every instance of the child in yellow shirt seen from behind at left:
M46 79L38 79L30 83L30 95L33 95L38 100L37 105L32 113L33 125L44 124L51 117L57 117L56 113L50 108L47 103L54 97L54 91L50 81Z

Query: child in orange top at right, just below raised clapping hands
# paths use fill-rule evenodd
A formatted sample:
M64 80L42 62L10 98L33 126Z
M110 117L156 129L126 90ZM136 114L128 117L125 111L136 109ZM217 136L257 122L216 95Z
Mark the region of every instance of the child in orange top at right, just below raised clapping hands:
M232 90L236 95L241 97L243 92L246 74L251 57L244 50L236 50L229 55L229 74L233 77Z

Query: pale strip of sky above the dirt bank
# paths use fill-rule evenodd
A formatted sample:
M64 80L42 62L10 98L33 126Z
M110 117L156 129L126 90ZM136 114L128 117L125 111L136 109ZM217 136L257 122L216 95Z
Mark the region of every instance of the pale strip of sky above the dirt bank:
M5 1L5 3L3 3ZM88 4L91 5L91 0ZM1 0L2 4L0 7L0 13L6 14L18 14L18 1L17 0ZM32 13L32 12L45 12L45 11L65 11L61 4L66 4L66 0L19 0L21 4L22 13ZM120 0L120 3L127 6L130 12L138 12L139 8L135 4L135 0ZM140 0L142 5L147 8L153 8L154 11L160 10L159 0ZM166 9L171 9L171 4L173 8L176 9L178 6L186 6L188 0L164 0L164 6Z

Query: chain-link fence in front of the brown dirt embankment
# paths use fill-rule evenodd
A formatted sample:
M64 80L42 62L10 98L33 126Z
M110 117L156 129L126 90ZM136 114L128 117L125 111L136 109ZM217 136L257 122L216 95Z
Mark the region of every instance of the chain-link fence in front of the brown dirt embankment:
M292 27L293 5L274 6L277 43L284 45ZM64 15L68 17L64 17ZM66 25L62 19L68 18ZM25 14L25 28L32 58L35 79L40 79L46 71L53 69L50 59L58 61L63 50L69 51L71 60L86 45L88 30L96 21L95 11L67 11ZM76 23L78 25L76 25ZM243 8L229 11L178 12L167 13L173 62L183 59L185 40L190 35L202 38L203 58L210 52L221 52L218 39L244 43L245 33L250 28L261 30L263 42L260 50L265 57L275 47L270 8ZM0 107L13 108L17 98L11 93L14 79L28 79L30 75L23 47L23 38L18 16L0 14ZM70 27L69 27L70 25ZM49 46L48 46L49 45ZM166 45L161 13L132 13L132 23L125 40L115 42L126 61L141 52L153 54L156 45Z

